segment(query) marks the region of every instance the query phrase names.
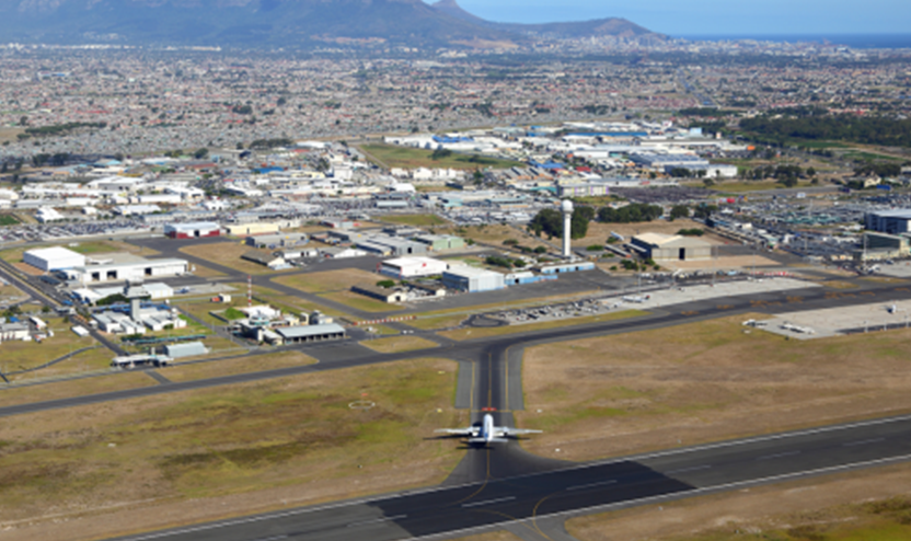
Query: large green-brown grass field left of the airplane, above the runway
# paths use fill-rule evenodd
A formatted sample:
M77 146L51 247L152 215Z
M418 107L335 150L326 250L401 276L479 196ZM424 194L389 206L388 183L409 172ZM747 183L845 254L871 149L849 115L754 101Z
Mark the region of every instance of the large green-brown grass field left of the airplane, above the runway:
M436 484L463 454L426 437L468 422L456 377L417 359L5 417L0 506L7 521L91 514L65 538L94 539ZM96 511L128 504L142 513Z

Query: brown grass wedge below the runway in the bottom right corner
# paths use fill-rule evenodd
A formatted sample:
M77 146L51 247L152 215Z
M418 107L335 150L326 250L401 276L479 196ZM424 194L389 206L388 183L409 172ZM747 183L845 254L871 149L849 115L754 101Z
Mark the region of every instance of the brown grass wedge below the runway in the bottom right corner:
M902 464L574 518L566 529L586 541L903 541L909 493Z

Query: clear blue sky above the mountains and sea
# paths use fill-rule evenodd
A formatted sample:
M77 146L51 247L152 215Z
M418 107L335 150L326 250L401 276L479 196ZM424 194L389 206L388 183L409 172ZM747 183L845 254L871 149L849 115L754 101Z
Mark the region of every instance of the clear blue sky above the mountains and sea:
M621 16L671 36L911 33L909 0L458 1L464 10L489 21L540 23Z

